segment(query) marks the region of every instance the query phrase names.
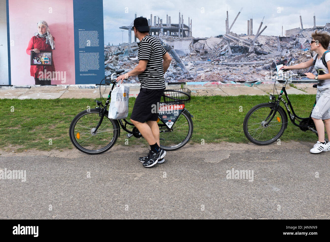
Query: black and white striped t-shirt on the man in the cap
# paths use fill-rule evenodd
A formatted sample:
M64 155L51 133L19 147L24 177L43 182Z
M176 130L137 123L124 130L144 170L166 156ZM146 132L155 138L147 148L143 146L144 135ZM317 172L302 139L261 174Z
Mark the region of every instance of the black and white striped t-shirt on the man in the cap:
M148 60L144 72L138 75L142 88L164 89L163 55L164 46L155 37L146 35L139 43L138 60Z

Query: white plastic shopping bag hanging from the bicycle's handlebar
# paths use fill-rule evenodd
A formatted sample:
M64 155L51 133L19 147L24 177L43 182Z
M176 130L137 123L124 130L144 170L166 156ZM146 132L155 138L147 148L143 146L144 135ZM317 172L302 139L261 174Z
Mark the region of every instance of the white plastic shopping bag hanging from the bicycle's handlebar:
M116 86L111 92L109 119L125 119L128 116L129 87Z

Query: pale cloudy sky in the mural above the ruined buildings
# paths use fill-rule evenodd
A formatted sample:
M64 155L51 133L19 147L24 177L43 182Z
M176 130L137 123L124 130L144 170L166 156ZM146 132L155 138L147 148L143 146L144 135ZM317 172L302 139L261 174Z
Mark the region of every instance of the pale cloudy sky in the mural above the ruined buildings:
M150 18L156 15L166 24L166 14L171 16L172 23L179 22L179 12L183 14L184 23L192 19L193 37L211 37L225 33L226 11L229 15L229 26L237 13L243 8L231 31L237 34L247 33L247 20L253 18L253 34L256 34L263 17L261 29L267 25L263 35L282 35L285 30L300 27L302 16L304 28L313 27L313 16L316 26L330 22L330 0L325 1L224 1L224 0L149 0L117 1L103 0L104 43L117 45L122 42L121 26L129 26L137 16ZM204 10L204 11L203 11ZM125 13L128 12L128 13ZM123 41L128 42L128 31L123 32ZM132 32L132 42L134 32Z

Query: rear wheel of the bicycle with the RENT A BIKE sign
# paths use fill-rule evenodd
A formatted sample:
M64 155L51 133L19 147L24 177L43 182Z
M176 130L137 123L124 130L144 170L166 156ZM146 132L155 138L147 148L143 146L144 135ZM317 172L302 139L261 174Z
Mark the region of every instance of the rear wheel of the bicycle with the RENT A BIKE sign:
M164 150L177 150L188 143L193 131L189 113L184 110L171 128L165 124L159 126L159 143Z

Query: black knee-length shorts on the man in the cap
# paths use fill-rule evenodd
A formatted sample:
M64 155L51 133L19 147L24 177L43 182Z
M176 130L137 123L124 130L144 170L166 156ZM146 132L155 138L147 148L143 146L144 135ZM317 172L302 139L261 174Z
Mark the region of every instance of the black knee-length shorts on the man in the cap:
M131 120L138 122L157 121L158 107L164 89L141 88L135 100ZM157 105L158 104L158 105Z

